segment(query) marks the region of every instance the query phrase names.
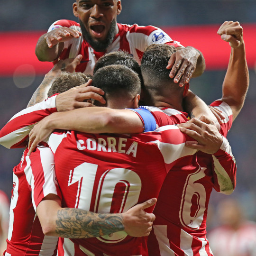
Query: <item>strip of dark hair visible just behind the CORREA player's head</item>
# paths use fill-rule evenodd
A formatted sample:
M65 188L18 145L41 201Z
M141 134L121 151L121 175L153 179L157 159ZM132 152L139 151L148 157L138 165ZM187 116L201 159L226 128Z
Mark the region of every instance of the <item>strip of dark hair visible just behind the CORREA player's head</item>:
M135 60L133 56L131 56L128 52L119 50L116 52L107 53L96 62L93 74L96 73L96 71L102 67L108 66L108 65L125 65L128 68L132 69L134 72L136 72L141 80L142 80L142 74L140 70L140 66Z

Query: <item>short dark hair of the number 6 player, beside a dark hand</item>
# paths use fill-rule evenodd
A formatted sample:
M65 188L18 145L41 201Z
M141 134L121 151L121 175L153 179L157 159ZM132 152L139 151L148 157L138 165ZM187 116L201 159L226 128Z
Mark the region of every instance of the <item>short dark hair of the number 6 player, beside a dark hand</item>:
M155 85L159 81L168 81L170 70L166 69L170 56L177 50L174 46L159 44L147 46L144 50L140 69L144 75L146 75L149 80L155 82Z

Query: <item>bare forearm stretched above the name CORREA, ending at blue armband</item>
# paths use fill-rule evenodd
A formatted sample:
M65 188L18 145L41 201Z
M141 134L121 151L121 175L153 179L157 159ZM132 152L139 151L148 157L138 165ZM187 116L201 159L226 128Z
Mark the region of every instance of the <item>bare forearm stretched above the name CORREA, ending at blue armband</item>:
M87 133L139 133L144 126L131 110L91 107L58 112L48 117L48 128Z

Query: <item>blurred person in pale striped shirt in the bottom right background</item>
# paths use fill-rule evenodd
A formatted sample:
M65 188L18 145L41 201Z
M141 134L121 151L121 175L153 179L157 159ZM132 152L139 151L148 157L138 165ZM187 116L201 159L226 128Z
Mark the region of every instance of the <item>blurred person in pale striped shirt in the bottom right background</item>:
M219 203L220 226L208 235L214 256L256 256L256 222L245 218L245 210L234 199Z

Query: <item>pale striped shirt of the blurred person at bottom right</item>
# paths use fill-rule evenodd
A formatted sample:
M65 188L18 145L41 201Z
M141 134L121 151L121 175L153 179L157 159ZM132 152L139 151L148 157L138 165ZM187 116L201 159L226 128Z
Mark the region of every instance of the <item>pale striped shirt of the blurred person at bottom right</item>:
M239 229L220 226L209 232L214 256L256 256L256 223L244 222Z

